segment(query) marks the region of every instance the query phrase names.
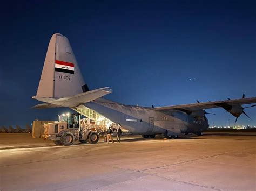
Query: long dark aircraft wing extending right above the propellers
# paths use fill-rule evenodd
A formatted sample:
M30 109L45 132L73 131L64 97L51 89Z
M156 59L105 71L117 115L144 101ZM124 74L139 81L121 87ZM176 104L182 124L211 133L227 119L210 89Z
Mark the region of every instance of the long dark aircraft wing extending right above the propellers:
M201 102L201 103L192 103L184 105L171 105L165 107L156 107L155 110L169 110L176 109L180 111L194 111L200 109L210 109L210 108L224 108L226 110L232 109L233 105L243 105L256 103L256 97L251 98L241 98L235 100L223 100L223 101L214 101L214 102Z

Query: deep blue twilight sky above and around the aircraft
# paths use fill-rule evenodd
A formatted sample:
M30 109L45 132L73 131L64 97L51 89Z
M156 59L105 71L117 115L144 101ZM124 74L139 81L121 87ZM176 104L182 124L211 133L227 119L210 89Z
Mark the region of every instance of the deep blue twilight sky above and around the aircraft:
M2 4L3 5L3 4ZM30 109L53 33L68 37L89 88L124 104L256 96L256 1L19 1L2 6L0 125L57 119ZM233 124L208 109L210 126ZM256 108L237 124L256 125Z

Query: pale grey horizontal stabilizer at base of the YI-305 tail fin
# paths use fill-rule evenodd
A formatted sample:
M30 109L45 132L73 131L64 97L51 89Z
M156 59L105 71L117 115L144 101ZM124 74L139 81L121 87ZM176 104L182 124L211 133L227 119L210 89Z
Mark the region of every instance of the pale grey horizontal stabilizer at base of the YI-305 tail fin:
M99 97L112 93L112 90L109 87L99 88L92 91L87 91L81 94L77 94L71 97L63 97L59 99L44 98L44 97L33 97L38 101L47 102L43 104L36 105L33 108L54 108L55 105L58 107L68 107L75 108L80 104L87 103L93 100L96 100ZM49 104L49 105L48 105Z

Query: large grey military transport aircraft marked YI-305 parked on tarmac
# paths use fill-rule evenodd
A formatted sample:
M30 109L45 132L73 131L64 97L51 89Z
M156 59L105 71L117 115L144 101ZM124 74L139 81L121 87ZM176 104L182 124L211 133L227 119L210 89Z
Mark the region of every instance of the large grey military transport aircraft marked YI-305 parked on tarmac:
M90 108L114 123L120 123L132 135L144 138L164 134L167 138L181 133L203 135L209 126L205 109L221 107L233 116L245 114L242 104L256 103L256 97L224 100L166 107L139 107L125 105L101 98L112 93L108 87L89 90L80 73L78 63L68 38L53 34L44 62L36 96L45 102L33 108L69 107L80 114ZM249 107L254 107L251 105ZM247 115L246 115L247 116ZM248 117L248 116L247 116ZM236 118L236 120L237 120Z

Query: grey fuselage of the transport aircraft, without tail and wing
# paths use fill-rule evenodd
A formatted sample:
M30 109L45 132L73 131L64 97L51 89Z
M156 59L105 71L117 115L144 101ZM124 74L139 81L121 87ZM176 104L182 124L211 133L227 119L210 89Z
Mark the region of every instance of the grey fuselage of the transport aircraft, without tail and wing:
M208 128L207 118L195 119L179 110L157 111L149 107L124 105L103 98L84 103L114 123L120 123L132 135L196 133ZM167 130L167 131L166 131Z

